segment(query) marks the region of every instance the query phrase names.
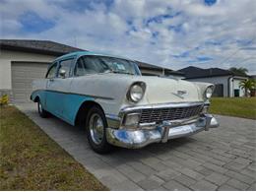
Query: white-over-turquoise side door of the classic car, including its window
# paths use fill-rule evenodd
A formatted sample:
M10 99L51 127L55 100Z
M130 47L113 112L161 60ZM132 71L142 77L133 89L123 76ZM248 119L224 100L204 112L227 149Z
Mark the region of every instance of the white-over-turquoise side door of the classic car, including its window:
M72 82L71 68L74 58L60 60L57 65L55 78L51 78L47 83L46 105L49 112L69 122L64 111L65 101L70 96L70 85ZM65 71L62 76L61 72Z

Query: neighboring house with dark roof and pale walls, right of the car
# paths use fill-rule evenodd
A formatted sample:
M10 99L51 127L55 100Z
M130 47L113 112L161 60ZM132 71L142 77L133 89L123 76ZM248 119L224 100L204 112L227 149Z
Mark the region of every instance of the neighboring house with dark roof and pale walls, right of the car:
M215 84L213 96L244 96L244 90L239 88L239 83L248 79L248 76L241 76L220 68L202 69L189 66L178 70L178 72L184 73L187 81Z

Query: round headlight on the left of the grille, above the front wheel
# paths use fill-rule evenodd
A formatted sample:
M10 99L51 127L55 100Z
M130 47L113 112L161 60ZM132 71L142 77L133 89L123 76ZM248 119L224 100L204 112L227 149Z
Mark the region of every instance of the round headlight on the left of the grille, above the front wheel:
M132 102L139 102L144 94L145 94L145 90L146 90L146 84L143 83L143 82L137 82L137 83L134 83L128 93L127 93L127 99L129 101L132 101Z

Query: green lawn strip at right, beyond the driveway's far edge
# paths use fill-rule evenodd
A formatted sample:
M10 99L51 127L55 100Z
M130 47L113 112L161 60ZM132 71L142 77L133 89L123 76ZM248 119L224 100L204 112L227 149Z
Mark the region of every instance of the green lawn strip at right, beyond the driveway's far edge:
M256 97L213 97L210 112L256 119Z

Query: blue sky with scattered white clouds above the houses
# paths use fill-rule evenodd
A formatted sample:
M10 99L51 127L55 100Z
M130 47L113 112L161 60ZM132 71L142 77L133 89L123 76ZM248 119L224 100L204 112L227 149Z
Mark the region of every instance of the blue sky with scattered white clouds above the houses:
M256 74L256 0L0 0L0 38Z

